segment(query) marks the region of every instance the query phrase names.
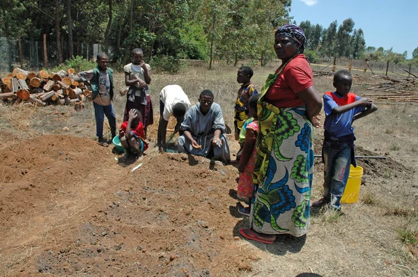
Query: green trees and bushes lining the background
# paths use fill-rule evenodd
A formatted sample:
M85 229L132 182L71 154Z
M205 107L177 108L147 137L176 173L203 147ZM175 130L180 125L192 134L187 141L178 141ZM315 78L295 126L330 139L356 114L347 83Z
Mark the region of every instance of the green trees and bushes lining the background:
M132 49L140 47L148 63L155 59L155 66L170 72L180 68L183 58L265 65L275 58L274 29L292 21L291 0L9 0L0 7L0 36L41 41L45 33L47 40L65 47L100 43L118 64L130 62ZM409 61L406 52L366 47L353 19L327 28L299 24L311 62L345 56L418 64L418 47ZM75 56L61 53L59 62Z

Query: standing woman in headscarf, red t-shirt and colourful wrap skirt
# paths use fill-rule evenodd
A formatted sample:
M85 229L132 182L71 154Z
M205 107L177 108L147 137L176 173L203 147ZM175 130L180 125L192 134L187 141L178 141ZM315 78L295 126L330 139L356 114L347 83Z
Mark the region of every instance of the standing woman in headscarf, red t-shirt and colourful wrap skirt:
M247 239L272 244L276 235L300 237L309 227L313 177L312 126L322 108L303 52L304 31L294 24L277 29L274 50L281 65L268 76L258 100L255 193Z

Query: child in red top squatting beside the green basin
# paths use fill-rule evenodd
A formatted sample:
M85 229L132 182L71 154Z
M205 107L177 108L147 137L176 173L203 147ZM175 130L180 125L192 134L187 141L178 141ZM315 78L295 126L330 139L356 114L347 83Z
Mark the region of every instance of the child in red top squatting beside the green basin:
M139 159L148 148L148 143L145 141L144 125L141 122L141 113L137 109L130 109L128 114L128 120L122 123L119 130L119 140L126 150L125 155L119 160L121 162L130 158L132 150L136 152L136 159Z

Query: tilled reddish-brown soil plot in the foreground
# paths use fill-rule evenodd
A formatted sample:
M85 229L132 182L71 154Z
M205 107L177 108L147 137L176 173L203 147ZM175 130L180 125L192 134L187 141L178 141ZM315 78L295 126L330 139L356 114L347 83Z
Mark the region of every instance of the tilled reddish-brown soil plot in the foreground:
M229 276L251 269L251 253L236 243L243 223L231 197L233 166L150 149L123 167L111 148L72 136L21 141L0 155L6 274Z

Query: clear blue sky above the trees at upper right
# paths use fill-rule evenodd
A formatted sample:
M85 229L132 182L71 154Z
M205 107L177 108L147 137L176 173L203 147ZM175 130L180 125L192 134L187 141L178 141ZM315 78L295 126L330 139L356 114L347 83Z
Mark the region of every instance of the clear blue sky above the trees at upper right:
M408 58L418 47L418 0L292 0L291 16L297 24L309 20L323 28L351 17L366 46L408 51Z

